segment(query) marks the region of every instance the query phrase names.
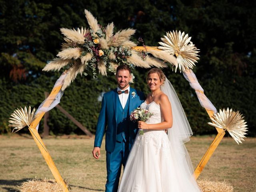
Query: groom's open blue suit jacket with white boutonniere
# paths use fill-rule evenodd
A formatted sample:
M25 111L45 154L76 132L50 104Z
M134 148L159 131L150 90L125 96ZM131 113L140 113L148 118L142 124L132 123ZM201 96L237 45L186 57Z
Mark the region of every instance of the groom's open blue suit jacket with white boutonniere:
M133 98L132 92L136 93ZM106 131L106 151L113 152L116 145L116 119L117 112L117 100L118 100L117 88L107 92L103 95L100 115L98 118L98 124L96 128L94 147L100 147L102 144L102 139ZM143 92L135 90L130 87L129 92L129 108L128 113L130 114L135 108L140 106L145 100L145 95ZM129 121L129 149L132 147L135 136L138 132L137 123Z

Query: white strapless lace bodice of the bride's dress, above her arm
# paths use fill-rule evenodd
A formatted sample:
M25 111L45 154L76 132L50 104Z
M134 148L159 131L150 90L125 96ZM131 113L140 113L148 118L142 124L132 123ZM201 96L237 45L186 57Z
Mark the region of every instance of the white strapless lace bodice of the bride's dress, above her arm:
M160 110L160 105L152 101L150 104L147 104L146 101L140 105L140 108L149 110L153 115L146 121L148 124L156 124L162 122L162 114Z

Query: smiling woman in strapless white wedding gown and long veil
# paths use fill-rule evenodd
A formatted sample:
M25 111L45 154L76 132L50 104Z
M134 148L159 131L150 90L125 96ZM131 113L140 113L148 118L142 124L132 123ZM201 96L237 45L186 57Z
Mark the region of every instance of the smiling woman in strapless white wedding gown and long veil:
M153 116L138 122L144 134L136 136L118 192L200 192L184 145L192 130L176 92L158 68L147 81L151 93L140 107Z

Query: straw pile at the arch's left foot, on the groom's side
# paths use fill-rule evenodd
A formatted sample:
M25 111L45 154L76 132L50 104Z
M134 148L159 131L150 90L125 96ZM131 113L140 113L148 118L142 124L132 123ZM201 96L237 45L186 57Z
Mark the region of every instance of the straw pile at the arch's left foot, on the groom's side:
M64 180L68 187L68 182ZM61 184L58 184L54 179L32 179L23 182L18 186L20 192L64 192Z

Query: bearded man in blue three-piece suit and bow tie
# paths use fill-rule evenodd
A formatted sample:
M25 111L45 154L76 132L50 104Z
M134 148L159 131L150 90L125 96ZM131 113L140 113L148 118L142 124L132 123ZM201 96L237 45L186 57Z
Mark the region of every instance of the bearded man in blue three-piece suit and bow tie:
M136 123L129 120L130 113L144 102L144 93L129 86L131 70L128 65L116 68L118 87L104 94L96 128L94 158L100 157L100 146L106 131L106 192L116 192L122 165L125 166L138 131Z

